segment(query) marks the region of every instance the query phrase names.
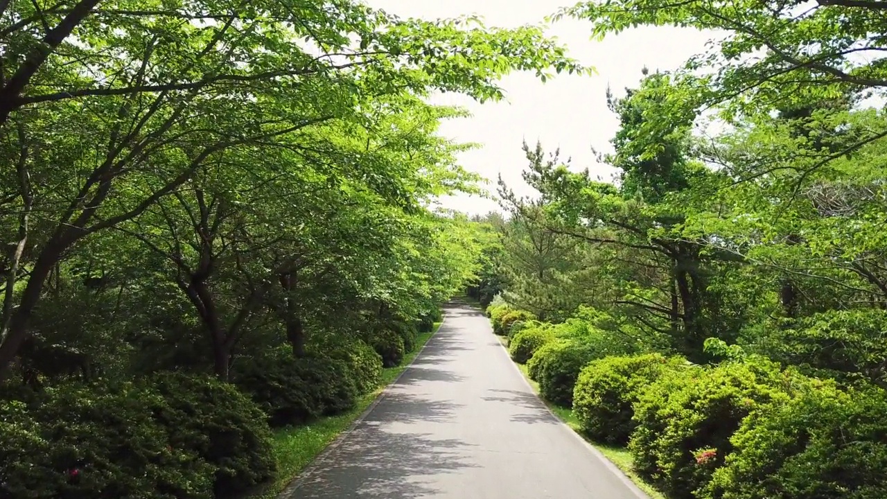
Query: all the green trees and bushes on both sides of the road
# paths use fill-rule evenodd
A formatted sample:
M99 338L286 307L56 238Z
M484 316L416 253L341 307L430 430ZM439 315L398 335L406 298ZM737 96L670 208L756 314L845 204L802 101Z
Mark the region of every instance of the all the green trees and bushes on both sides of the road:
M428 97L590 74L541 25L0 0L0 499L272 497L463 292L657 494L887 497L885 13L561 9L724 37L606 96L615 178L524 144L469 217Z

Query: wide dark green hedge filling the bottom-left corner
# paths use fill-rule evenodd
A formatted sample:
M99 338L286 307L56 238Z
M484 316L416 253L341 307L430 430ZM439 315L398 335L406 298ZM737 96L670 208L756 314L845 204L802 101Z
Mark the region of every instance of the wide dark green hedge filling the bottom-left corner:
M263 413L208 376L59 384L0 406L0 497L229 497L274 469Z

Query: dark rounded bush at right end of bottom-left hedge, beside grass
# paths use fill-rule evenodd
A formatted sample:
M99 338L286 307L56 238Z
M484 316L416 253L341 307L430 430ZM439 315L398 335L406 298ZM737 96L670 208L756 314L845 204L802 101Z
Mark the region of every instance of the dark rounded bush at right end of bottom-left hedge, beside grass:
M216 468L215 495L229 497L275 471L265 415L231 384L209 376L161 373L145 380L145 400L169 432L172 448L186 449ZM150 397L157 392L159 397Z

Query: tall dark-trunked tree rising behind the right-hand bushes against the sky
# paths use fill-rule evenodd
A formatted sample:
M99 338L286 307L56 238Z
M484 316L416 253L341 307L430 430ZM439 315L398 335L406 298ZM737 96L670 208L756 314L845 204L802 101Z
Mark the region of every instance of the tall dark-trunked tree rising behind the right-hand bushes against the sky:
M556 156L541 161L540 147L528 155L524 175L541 194L544 230L594 245L599 265L619 269L613 279L595 280L608 282L598 293L608 306L652 335L671 337L672 347L692 359L705 357L707 337L734 337L738 326L711 287L720 262L737 258L707 251L710 234L682 232L688 216L709 206L697 187L719 175L690 157L698 102L686 80L664 74L648 75L623 99L609 97L622 127L613 139L616 154L602 159L618 169L619 185L570 171Z

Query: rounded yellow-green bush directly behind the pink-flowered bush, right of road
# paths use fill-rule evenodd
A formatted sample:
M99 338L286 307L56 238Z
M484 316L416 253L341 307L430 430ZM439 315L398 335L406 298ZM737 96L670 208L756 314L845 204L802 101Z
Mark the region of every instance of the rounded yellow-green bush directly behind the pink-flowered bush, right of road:
M634 357L594 360L579 374L573 393L573 414L586 435L624 445L635 428L633 404L640 392L666 369L683 362L650 353Z

